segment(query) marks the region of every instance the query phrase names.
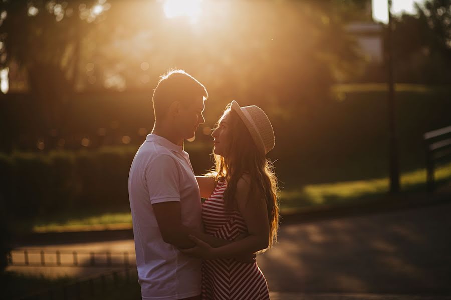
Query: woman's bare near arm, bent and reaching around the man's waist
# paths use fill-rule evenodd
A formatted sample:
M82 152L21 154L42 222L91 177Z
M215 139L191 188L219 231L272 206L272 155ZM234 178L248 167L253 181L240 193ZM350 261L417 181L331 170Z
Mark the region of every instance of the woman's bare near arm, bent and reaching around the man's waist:
M260 191L252 190L250 194L250 178L243 176L237 184L236 200L238 209L245 219L249 235L241 240L212 248L195 236L189 237L196 242L196 246L182 251L205 259L215 259L246 255L266 249L269 243L269 223L266 201Z

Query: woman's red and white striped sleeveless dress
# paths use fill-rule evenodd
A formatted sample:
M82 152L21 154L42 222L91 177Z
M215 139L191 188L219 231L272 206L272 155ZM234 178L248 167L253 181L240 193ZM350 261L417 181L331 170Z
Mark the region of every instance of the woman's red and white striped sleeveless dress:
M222 194L227 183L218 182L213 193L202 204L205 233L233 240L247 232L239 211L224 208ZM268 284L257 262L243 263L233 258L202 261L203 300L269 300Z

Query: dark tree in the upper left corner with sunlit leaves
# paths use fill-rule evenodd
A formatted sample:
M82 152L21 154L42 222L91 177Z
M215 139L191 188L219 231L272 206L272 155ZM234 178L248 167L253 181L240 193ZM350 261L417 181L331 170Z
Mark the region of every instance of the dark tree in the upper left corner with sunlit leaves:
M26 73L30 95L39 104L35 107L44 115L34 124L34 133L51 144L61 134L76 89L82 38L92 23L102 21L105 6L97 3L9 0L0 4L0 67L16 63Z

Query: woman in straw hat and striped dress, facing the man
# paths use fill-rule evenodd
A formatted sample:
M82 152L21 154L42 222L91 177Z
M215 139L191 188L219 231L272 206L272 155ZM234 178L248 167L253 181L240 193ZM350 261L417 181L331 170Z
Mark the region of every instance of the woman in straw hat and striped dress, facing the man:
M202 257L202 299L269 299L257 262L231 257L263 252L277 238L277 179L265 154L274 147L274 131L258 106L230 103L211 134L214 171L197 176L205 233L227 239L212 248L190 236L196 246L182 250ZM245 236L245 237L242 237Z

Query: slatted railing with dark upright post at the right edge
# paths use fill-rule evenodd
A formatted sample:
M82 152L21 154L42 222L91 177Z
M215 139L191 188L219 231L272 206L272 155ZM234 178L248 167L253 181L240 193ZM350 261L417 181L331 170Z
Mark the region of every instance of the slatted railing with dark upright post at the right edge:
M423 134L426 148L427 190L434 189L434 168L438 161L451 157L451 126Z

